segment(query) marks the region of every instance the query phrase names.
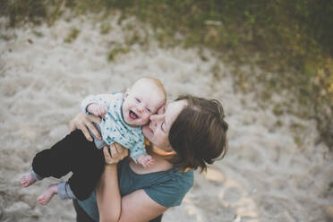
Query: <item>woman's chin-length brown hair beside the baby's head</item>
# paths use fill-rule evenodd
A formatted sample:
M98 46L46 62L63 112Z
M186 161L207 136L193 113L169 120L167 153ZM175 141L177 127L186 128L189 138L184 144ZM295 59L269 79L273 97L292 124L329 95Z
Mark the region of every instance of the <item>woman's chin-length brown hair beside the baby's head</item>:
M169 141L176 152L171 162L182 170L187 167L202 171L207 164L223 158L227 150L226 131L222 105L216 99L181 96L188 105L175 119L169 132Z

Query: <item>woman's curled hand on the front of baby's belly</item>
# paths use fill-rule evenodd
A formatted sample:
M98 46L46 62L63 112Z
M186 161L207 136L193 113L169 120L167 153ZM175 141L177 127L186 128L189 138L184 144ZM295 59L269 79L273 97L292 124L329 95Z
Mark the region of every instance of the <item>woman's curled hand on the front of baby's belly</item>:
M125 149L122 145L114 142L110 145L110 152L107 147L103 148L104 158L106 159L106 164L115 165L120 160L128 156L128 149Z

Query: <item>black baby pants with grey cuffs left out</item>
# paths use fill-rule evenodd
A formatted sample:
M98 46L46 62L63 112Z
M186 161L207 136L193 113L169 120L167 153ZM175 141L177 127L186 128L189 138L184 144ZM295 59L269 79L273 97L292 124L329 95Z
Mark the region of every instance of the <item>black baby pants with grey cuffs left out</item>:
M104 166L103 149L97 149L80 130L71 132L50 149L38 152L32 162L32 170L42 177L60 178L73 172L68 184L80 201L90 197Z

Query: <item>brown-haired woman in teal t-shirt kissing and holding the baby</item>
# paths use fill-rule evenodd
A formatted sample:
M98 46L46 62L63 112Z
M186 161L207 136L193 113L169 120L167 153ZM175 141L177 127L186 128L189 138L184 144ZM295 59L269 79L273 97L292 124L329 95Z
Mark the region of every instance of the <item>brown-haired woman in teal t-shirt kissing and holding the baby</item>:
M177 98L158 115L151 115L142 132L152 144L148 152L154 165L136 165L124 158L127 149L119 145L111 148L111 155L105 148L107 164L96 192L87 201L74 201L77 220L149 221L180 205L192 187L193 169L203 171L225 155L228 125L224 117L217 100L192 96ZM87 127L98 136L91 122L99 121L80 114L71 122L70 130L78 128L91 140Z

